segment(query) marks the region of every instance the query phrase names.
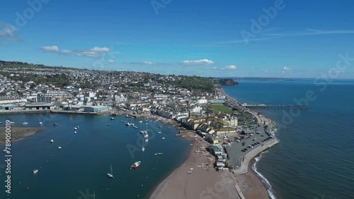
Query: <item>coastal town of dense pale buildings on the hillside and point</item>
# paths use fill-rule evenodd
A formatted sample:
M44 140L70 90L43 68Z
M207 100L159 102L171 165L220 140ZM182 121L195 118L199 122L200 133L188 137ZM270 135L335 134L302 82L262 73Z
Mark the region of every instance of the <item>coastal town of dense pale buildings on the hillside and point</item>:
M234 182L234 193L229 196L237 193L234 197L245 198L246 190L236 176L246 174L251 159L278 143L275 124L227 96L220 85L236 83L3 62L0 114L109 114L171 123L178 129L177 137L193 140L196 169L213 169L217 176L227 171ZM196 169L185 171L185 177L198 176Z

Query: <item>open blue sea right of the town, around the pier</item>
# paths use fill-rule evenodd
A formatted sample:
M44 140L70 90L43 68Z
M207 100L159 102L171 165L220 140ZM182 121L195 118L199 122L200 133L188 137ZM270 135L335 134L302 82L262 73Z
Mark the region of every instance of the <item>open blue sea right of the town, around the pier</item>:
M256 164L276 198L354 198L354 81L324 86L312 81L241 81L224 87L228 95L247 103L295 104L309 90L316 95L309 109L293 116L290 109L257 110L279 125L280 143Z

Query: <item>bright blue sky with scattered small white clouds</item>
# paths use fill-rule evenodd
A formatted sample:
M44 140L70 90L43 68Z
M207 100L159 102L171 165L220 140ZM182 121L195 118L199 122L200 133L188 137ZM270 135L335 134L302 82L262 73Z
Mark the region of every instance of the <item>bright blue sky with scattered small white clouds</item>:
M321 78L330 71L354 78L349 0L0 4L1 60L195 76Z

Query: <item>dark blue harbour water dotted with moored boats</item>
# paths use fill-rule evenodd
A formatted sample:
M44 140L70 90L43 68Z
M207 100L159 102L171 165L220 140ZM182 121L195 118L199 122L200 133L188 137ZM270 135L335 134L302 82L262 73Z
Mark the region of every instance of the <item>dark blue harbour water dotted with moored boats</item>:
M28 122L27 126L39 126L38 122L42 121L45 128L13 143L12 193L5 194L3 169L0 198L89 199L86 190L89 194L95 191L97 199L147 198L154 186L185 160L190 149L188 141L176 138L175 128L168 128L159 121L144 121L144 128L148 122L149 142L144 144L145 152L142 152L139 129L121 123L120 120L127 120L122 116L110 121L110 116L11 114L0 115L1 126L6 119L15 121L14 126L24 126L24 121ZM138 121L128 121L140 128ZM52 126L53 122L59 126ZM74 134L75 126L79 126L77 134ZM161 140L162 137L166 139ZM54 143L50 143L51 139ZM62 146L62 150L58 150L58 146ZM4 145L0 149L3 150ZM164 152L164 155L157 157L156 152ZM130 169L130 164L137 160L142 161L142 166ZM3 163L1 155L0 164ZM110 164L115 179L107 177ZM38 174L33 175L33 169L39 169Z

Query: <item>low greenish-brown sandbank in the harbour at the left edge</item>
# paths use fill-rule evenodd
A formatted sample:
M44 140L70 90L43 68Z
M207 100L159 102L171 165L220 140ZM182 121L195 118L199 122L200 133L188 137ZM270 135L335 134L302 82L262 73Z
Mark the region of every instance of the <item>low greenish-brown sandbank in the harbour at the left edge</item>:
M34 135L42 131L43 127L11 127L11 142L16 142L30 135ZM3 145L6 140L6 128L0 127L0 145Z

